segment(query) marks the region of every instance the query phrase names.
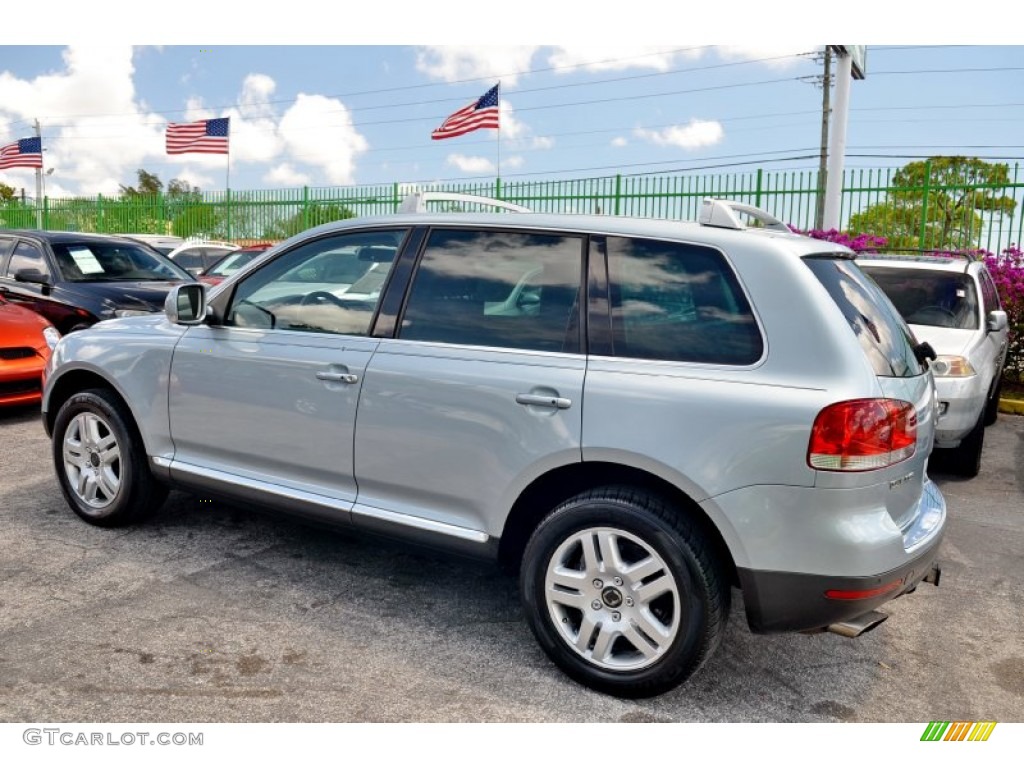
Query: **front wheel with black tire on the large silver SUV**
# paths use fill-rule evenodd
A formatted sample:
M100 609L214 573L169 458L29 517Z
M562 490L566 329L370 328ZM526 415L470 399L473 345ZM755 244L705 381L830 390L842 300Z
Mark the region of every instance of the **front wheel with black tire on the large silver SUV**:
M109 389L84 390L60 407L52 452L68 505L92 525L127 525L167 498L166 486L150 472L130 413Z

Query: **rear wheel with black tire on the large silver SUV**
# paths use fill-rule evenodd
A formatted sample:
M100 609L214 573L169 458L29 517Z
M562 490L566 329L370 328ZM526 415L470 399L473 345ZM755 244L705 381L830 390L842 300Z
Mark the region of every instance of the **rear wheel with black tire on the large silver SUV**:
M590 537L602 573L597 580L584 552ZM609 552L598 552L602 541ZM558 570L549 570L556 562ZM579 567L566 566L572 563ZM641 563L662 567L635 581ZM630 568L637 569L633 575ZM573 574L579 595L549 591L548 579L564 581L565 572ZM670 584L675 592L645 596ZM659 498L629 487L590 490L549 514L526 545L520 590L529 627L551 659L584 685L626 698L657 695L689 678L718 647L729 613L729 584L701 530ZM663 628L674 630L659 637L653 630ZM598 646L603 651L595 660Z

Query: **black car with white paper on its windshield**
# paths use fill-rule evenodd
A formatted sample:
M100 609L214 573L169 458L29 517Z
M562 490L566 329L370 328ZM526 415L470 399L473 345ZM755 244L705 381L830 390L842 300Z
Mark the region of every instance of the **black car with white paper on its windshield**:
M0 230L0 295L61 334L162 311L172 286L194 282L166 256L128 238Z

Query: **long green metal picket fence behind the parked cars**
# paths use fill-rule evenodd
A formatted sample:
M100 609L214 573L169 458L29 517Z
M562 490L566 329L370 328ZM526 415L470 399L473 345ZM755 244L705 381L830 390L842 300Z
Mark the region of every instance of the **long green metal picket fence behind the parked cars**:
M844 175L842 221L863 224L872 234L903 247L1001 250L1022 242L1024 177L1009 168L1001 184L897 185L897 169L853 169ZM597 213L692 220L706 197L756 205L803 229L814 222L816 171L765 171L719 175L614 175L550 181L501 179L418 185L423 190L458 191L500 198L536 211ZM66 229L205 236L236 242L278 241L310 226L347 216L397 210L409 185L301 187L210 191L185 196L132 198L46 198L42 205L0 204L0 228ZM980 196L1016 202L985 209ZM978 203L978 201L982 201ZM959 208L956 203L959 202ZM978 203L978 207L972 207Z

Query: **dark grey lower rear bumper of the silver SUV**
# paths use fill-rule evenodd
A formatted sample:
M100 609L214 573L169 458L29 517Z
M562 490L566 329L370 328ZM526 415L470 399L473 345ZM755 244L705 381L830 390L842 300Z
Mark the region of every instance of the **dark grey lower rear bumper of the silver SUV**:
M855 618L912 592L938 564L941 532L898 568L870 577L829 577L738 568L751 630L757 633L820 630ZM827 597L826 592L864 595ZM876 593L876 594L872 594Z

